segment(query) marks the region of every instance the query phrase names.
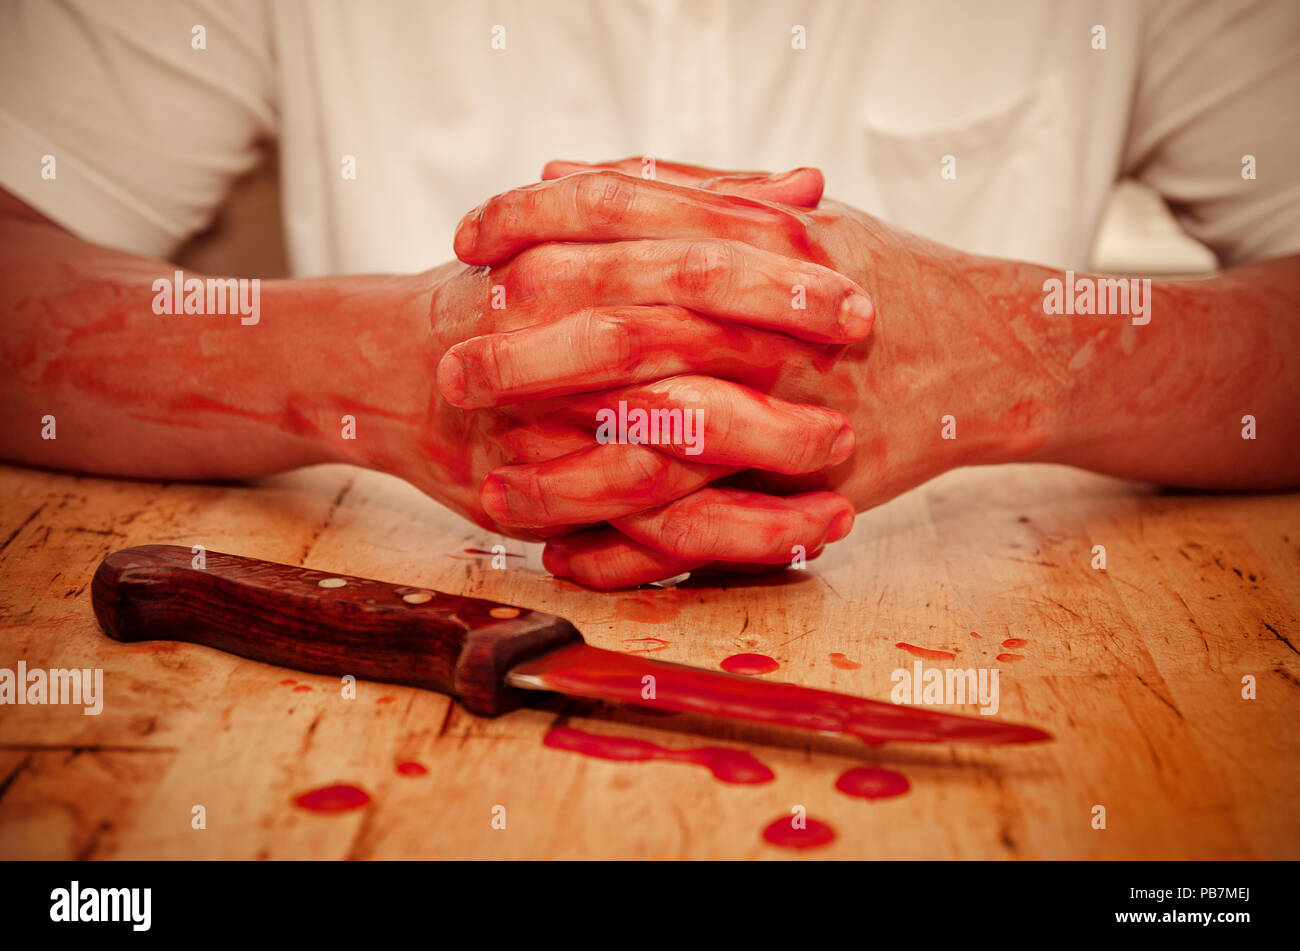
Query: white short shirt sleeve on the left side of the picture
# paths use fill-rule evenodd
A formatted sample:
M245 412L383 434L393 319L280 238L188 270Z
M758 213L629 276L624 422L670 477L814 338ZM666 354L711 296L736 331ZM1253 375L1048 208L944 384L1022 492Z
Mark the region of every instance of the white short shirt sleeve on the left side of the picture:
M274 127L260 0L0 4L0 186L86 240L166 257Z

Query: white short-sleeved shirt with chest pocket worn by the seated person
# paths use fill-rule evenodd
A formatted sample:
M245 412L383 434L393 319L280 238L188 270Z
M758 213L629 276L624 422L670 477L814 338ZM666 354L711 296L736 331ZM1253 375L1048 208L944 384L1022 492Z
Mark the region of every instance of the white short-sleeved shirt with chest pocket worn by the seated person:
M641 155L816 165L913 231L1074 268L1132 175L1236 264L1300 251L1297 118L1295 0L0 6L0 184L165 257L274 136L296 275L439 264L546 160Z

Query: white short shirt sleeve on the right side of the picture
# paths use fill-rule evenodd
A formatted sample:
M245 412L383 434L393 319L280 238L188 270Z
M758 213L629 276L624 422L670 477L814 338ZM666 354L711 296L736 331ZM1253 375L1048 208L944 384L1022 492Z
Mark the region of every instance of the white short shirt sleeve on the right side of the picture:
M1148 0L1143 31L1123 171L1223 265L1300 252L1300 3Z

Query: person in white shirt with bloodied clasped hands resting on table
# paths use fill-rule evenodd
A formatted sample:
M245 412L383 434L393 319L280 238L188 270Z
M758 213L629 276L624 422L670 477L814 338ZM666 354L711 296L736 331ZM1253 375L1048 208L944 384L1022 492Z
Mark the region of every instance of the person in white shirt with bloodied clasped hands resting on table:
M356 463L547 538L547 568L597 587L786 564L957 465L1300 482L1294 4L3 18L8 459ZM165 257L268 135L299 277L214 316ZM618 153L485 201L432 266L467 196ZM811 156L845 201L814 169L642 155ZM1075 274L1122 174L1226 270ZM634 411L673 438L624 438Z

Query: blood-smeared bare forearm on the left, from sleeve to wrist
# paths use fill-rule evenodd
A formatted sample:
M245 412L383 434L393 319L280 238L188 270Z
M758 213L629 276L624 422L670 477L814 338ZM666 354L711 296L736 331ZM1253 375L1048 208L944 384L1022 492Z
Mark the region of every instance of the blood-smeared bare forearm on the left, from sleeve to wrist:
M238 312L159 314L155 281L174 281L174 266L44 221L4 218L0 246L5 459L247 477L347 457L344 414L386 425L425 409L428 395L402 392L412 377L391 365L424 339L412 278L263 282L252 322Z

